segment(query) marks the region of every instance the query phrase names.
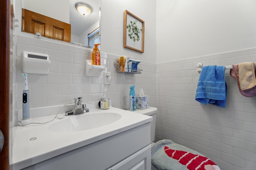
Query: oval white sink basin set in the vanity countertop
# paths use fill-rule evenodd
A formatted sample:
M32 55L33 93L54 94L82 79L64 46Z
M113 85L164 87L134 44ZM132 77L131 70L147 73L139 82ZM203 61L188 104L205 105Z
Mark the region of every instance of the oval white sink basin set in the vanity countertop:
M118 113L84 113L72 115L51 124L47 129L52 132L72 132L94 129L114 123L121 119Z

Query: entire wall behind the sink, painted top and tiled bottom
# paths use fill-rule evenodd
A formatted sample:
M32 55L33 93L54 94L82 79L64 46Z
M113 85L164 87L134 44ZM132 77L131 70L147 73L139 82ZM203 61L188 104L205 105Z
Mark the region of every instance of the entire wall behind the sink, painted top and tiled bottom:
M132 8L132 4L135 3L129 0L123 0L121 4L118 4L119 8L116 8L115 3L118 1L106 1L103 0L101 5L101 15L105 18L101 18L101 35L105 41L102 41L101 49L102 53L102 65L106 66L106 71L111 72L111 85L109 87L107 97L112 100L114 107L128 108L128 93L129 87L135 84L135 90L138 92L140 88L144 89L146 95L149 96L150 106L155 106L156 101L156 64L155 64L155 3L154 0L150 1L138 1L136 2L137 8ZM151 11L149 16L146 16L144 5L151 2L146 11ZM111 12L114 14L120 13L120 20L116 20L116 17L109 15L109 4L112 3L113 8ZM136 51L124 49L116 40L122 41L123 33L113 34L114 32L123 32L123 17L124 10L129 4L130 12L134 9L138 12L136 15L142 19L146 19L146 24L154 25L152 29L152 35L145 34L145 40L151 39L152 47L145 48L146 53L141 54ZM16 18L18 18L18 24L21 25L21 2L16 1ZM144 11L144 12L143 12ZM154 16L153 18L150 18ZM107 21L104 21L107 20ZM112 23L112 26L109 25ZM119 28L121 27L121 28ZM28 74L28 84L30 88L31 103L30 107L44 107L44 106L56 106L66 103L70 103L74 98L83 96L84 102L96 101L104 93L107 86L103 84L103 72L99 77L90 77L85 75L85 61L91 58L92 49L80 47L76 45L70 45L69 43L48 39L42 37L37 39L34 35L21 32L20 29L15 31L17 39L17 53L15 55L15 69L16 69L16 109L22 108L22 52L30 51L35 53L48 54L51 60L50 73L48 75ZM110 47L110 43L113 43L114 50ZM120 53L121 51L121 53ZM113 54L113 55L112 55ZM145 55L146 54L146 55ZM118 60L120 55L126 55L128 57L135 57L143 59L140 63L140 68L143 70L142 74L124 74L116 72L114 68L114 61ZM143 58L142 58L143 57Z

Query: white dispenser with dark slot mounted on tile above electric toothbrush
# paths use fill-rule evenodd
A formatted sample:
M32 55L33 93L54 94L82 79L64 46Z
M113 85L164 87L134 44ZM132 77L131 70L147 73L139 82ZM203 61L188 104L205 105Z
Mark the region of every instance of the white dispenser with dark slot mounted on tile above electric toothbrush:
M33 74L48 74L51 61L49 55L23 52L23 72Z

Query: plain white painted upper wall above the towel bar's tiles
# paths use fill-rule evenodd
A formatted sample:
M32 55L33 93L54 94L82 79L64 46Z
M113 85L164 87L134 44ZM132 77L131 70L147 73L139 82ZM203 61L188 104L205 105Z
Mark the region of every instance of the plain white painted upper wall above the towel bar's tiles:
M255 0L161 0L156 14L156 63L256 47Z

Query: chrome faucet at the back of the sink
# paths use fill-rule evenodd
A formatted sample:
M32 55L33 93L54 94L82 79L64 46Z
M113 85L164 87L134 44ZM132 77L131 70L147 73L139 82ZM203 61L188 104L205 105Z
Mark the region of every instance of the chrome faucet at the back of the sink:
M86 104L82 104L82 98L83 97L78 97L74 99L74 109L66 111L65 115L78 115L82 113L87 113L89 112L89 109L86 108Z

